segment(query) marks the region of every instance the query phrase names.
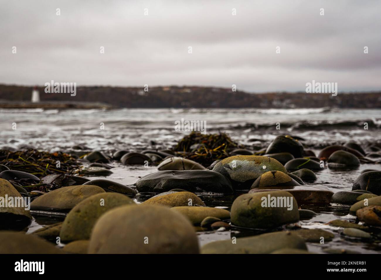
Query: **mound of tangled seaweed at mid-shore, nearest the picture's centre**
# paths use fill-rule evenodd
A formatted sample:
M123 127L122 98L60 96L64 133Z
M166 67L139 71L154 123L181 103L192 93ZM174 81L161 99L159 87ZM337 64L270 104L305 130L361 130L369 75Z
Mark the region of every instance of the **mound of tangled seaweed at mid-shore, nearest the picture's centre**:
M226 133L201 134L192 131L173 148L175 151L208 167L215 160L229 157L229 152L240 147Z

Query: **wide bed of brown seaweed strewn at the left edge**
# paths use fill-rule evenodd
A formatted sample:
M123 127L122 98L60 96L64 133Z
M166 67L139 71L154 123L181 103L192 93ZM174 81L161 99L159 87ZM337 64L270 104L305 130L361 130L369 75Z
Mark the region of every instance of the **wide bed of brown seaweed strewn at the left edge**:
M65 178L65 174L73 174L82 165L69 154L62 152L49 153L34 149L19 151L0 150L0 164L7 166L10 170L33 174L40 179L51 174L57 174L57 177ZM59 176L60 174L62 176ZM28 191L39 190L46 192L52 187L58 186L57 179L51 182L46 182L46 180L13 179L10 182L24 187Z

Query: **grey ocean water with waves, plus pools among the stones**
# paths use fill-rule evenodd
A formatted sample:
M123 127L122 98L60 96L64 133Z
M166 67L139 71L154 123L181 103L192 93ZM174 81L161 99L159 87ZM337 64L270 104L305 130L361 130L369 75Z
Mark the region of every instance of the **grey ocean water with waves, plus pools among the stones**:
M117 109L117 110L43 110L0 109L0 149L34 147L42 150L70 151L75 144L84 144L90 150L112 152L117 149L166 149L187 135L189 131L176 131L176 121L199 120L206 122L207 133L223 131L235 141L252 147L266 147L280 134L305 139L303 145L315 154L331 144L356 141L365 150L373 143L380 144L381 111L363 109ZM14 124L16 123L16 129ZM367 123L368 129L364 129ZM280 126L280 130L277 130ZM104 129L101 129L103 126ZM152 142L153 141L153 142ZM369 150L368 150L369 151ZM86 163L84 163L86 165ZM107 179L122 184L134 184L139 177L157 171L155 166L123 166L113 162L114 172ZM355 178L364 169L381 170L380 164L367 163L359 168L335 170L325 168L316 173L317 181L303 187L327 187L333 192L351 190ZM91 177L91 179L104 177ZM150 195L137 195L142 202ZM207 206L230 210L236 195L201 196ZM334 219L354 221L349 208L339 206L302 206L317 216L302 220L304 228L327 229L335 238L325 244L307 243L310 251L322 253L324 248L340 248L359 253L379 253L381 245L374 240L352 240L341 234L340 228L325 225ZM52 224L62 218L34 216L28 233ZM200 245L231 237L255 235L260 232L218 230L198 232Z

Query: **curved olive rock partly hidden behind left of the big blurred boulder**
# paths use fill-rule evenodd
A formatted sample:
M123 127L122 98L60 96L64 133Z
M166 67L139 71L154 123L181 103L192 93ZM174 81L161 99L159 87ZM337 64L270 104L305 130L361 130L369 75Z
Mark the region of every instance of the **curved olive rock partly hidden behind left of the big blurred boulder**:
M116 193L92 195L74 206L67 214L61 229L61 240L86 240L102 214L123 205L136 205L131 198Z

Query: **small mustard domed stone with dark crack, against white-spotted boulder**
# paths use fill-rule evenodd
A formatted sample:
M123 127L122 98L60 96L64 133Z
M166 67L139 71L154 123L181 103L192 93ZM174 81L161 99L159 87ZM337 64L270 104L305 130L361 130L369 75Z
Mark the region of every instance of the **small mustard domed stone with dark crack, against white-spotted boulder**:
M256 179L251 185L251 189L263 188L263 187L294 187L300 186L298 182L288 176L282 171L269 171L263 173L258 179Z

